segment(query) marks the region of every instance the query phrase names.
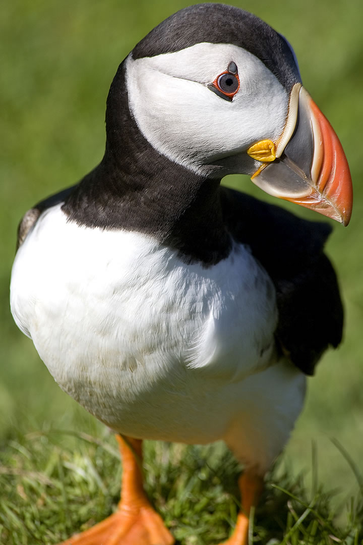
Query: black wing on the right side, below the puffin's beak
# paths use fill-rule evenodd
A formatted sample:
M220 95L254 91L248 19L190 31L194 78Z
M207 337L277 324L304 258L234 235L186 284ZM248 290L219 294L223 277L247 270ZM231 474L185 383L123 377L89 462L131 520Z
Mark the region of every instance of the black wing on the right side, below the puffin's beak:
M343 308L337 278L323 253L331 227L225 187L225 223L250 246L272 278L277 294L278 344L294 365L313 374L329 345L342 338Z

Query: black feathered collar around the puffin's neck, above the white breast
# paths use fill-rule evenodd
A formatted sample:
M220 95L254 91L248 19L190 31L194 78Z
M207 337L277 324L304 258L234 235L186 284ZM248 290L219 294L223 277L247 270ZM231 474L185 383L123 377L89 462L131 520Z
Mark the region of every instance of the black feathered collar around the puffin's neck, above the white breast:
M125 62L111 84L106 152L67 197L63 210L79 225L152 235L188 262L211 265L230 252L220 180L195 174L159 154L128 107Z

